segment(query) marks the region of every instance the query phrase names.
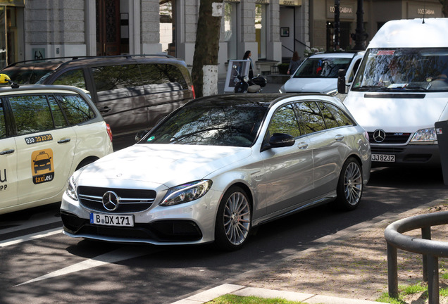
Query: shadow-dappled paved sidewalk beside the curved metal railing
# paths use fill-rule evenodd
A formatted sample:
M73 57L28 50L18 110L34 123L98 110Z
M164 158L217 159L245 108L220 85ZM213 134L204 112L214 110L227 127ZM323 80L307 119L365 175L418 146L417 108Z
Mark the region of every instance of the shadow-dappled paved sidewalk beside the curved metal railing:
M212 289L199 289L173 304L206 303L232 293L238 296L285 298L308 304L373 304L387 292L387 251L384 230L390 223L413 215L447 210L447 199L439 199L399 215L380 215L335 234L313 241L311 247L278 260ZM408 232L421 237L418 230ZM445 240L447 225L433 227L432 238ZM244 250L244 249L243 249ZM399 251L399 282L421 281L421 256ZM441 287L444 280L440 278ZM304 291L304 292L297 292ZM421 294L405 303L424 303ZM442 302L441 299L441 303Z

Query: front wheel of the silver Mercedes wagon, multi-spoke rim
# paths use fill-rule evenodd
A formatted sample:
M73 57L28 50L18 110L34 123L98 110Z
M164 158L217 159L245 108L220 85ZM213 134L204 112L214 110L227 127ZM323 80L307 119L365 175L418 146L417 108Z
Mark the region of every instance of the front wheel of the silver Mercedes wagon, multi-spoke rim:
M215 245L220 250L242 248L251 229L251 204L246 192L232 186L225 192L215 223Z

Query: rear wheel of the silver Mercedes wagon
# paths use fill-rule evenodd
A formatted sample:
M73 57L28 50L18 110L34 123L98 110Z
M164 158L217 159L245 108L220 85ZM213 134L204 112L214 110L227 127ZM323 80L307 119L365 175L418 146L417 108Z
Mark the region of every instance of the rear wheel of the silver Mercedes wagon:
M342 166L336 192L337 208L354 210L358 207L363 194L363 171L355 158L348 158Z

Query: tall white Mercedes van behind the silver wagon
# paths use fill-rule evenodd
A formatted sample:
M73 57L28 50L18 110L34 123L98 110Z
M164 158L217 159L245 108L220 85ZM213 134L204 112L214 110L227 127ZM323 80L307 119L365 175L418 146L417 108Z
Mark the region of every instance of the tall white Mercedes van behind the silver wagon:
M448 18L378 30L344 100L369 134L373 167L440 165L434 124L448 120L447 75Z

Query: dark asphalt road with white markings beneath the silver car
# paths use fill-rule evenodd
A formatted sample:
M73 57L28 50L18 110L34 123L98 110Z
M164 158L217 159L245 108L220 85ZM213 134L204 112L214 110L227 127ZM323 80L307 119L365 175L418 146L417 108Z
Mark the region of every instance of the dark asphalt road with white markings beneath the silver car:
M61 234L58 204L0 215L0 303L173 303L310 248L323 236L445 198L447 189L440 169L374 169L356 210L323 205L270 222L232 253L71 239Z

